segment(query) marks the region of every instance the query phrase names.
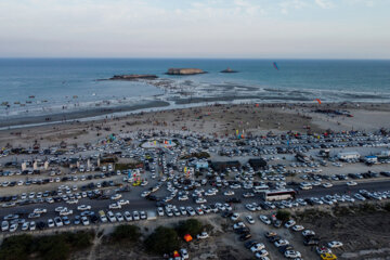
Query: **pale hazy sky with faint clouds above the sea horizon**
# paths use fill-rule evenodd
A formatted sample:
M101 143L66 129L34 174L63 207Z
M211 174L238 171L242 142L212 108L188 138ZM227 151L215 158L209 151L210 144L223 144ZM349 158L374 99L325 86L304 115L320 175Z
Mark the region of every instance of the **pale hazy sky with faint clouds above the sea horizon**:
M0 56L390 58L390 0L0 0Z

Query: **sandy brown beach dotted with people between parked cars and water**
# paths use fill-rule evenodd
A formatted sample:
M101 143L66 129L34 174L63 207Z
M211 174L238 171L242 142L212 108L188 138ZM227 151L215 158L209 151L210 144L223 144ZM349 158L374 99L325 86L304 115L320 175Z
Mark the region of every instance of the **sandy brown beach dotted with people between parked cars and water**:
M151 104L150 104L151 105ZM127 109L142 109L150 107L136 106ZM153 104L165 106L165 102ZM333 113L316 113L315 109L346 110L353 117L335 115ZM244 135L265 134L295 131L321 133L327 129L333 131L376 131L389 128L390 104L379 103L323 103L317 104L213 104L191 108L168 110L141 112L128 116L114 117L109 114L125 112L125 107L109 110L78 112L66 115L67 119L87 118L105 115L106 118L91 121L66 121L60 123L26 127L0 131L0 146L11 144L17 146L32 146L35 141L41 145L57 145L65 141L68 144L94 142L110 133L129 133L139 130L190 130L214 134L216 136L232 135L244 132ZM63 115L52 116L52 121L62 120ZM23 125L37 122L37 119L23 118L2 122ZM39 120L38 120L39 122Z

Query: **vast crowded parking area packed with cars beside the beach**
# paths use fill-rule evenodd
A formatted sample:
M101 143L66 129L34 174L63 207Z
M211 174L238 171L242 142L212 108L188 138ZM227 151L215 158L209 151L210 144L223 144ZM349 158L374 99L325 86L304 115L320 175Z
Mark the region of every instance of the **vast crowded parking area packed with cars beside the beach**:
M388 146L380 133L242 140L177 131L110 134L78 147L9 148L0 158L2 234L237 212L250 226L247 239L256 242L274 230L275 221L264 224L260 214L390 198ZM343 152L360 158L340 160ZM376 164L364 160L372 155L378 155ZM269 239L264 248L272 259L298 258L292 251L318 257L303 246L302 231L277 229L291 248Z

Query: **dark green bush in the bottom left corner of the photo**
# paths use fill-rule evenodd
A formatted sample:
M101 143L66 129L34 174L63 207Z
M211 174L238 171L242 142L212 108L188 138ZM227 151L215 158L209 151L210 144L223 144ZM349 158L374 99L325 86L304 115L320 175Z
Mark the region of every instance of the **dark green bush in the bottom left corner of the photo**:
M25 260L31 253L34 238L30 235L11 236L3 240L0 247L0 259Z

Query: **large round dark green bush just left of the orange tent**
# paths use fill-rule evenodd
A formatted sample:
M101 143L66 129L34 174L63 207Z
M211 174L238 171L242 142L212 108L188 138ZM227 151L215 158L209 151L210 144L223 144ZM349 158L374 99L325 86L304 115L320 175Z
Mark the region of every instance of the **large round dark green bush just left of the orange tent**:
M145 247L150 252L168 253L180 247L178 233L166 226L158 226L145 240Z

